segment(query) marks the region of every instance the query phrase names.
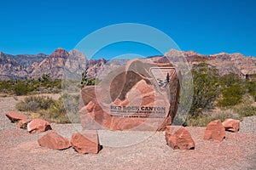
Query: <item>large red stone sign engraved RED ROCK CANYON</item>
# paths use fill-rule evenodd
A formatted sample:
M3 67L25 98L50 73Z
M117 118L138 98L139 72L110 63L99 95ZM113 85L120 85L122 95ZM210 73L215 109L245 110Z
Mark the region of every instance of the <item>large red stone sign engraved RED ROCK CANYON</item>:
M84 129L164 130L177 113L180 82L172 64L132 59L82 90Z

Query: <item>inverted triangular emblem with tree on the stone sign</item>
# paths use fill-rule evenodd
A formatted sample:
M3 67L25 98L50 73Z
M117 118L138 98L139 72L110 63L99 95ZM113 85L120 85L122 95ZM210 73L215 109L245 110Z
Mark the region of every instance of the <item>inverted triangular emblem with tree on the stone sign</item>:
M165 91L169 86L172 76L175 73L173 67L152 67L150 73L154 77L154 81L160 91Z

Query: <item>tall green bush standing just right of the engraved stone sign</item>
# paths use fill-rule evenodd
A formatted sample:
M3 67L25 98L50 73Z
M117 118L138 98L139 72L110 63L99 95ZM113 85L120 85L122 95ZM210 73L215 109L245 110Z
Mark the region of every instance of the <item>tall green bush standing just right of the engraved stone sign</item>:
M200 116L202 111L212 109L220 93L218 70L201 63L192 69L194 95L190 116Z

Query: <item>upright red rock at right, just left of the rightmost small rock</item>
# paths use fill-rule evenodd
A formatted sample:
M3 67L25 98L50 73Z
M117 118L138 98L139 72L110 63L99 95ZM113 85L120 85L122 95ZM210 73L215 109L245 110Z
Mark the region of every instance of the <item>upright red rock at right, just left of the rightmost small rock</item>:
M215 120L207 124L207 129L204 135L204 139L213 139L222 141L225 137L225 128L220 120Z

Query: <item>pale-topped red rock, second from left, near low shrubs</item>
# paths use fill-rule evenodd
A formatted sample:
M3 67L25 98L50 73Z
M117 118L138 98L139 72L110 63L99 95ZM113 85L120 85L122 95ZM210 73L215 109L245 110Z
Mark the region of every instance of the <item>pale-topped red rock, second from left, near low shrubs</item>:
M34 119L32 122L27 124L27 131L29 133L43 133L44 131L50 130L51 127L49 122L41 120L41 119Z

